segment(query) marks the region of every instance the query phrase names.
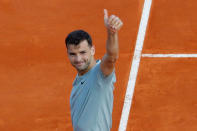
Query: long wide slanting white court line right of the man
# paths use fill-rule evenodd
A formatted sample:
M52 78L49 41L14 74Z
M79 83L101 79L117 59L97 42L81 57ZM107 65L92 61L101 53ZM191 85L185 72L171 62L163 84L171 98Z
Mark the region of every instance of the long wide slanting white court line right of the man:
M144 8L142 12L140 27L136 41L136 47L135 47L133 61L131 65L131 71L127 85L127 91L125 95L124 106L123 106L120 125L119 125L119 131L126 131L151 4L152 4L152 0L144 1Z

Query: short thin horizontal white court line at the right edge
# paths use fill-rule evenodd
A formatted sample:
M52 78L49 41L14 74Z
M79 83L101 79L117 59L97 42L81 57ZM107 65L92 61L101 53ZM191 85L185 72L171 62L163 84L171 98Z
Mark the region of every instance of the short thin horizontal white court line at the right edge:
M142 54L142 57L194 58L197 57L197 54Z

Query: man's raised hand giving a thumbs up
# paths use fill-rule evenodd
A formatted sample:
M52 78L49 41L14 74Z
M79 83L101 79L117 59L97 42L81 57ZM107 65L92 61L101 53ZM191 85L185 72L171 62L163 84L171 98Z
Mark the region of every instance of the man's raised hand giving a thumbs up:
M109 33L112 34L118 32L118 30L123 26L123 22L119 17L115 15L108 17L108 11L106 9L104 9L104 24Z

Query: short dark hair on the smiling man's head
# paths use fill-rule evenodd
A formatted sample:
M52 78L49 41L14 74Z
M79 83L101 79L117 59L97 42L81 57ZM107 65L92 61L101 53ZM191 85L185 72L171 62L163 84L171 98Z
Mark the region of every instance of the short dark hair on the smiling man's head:
M75 30L68 34L68 36L65 39L66 47L68 48L68 45L78 45L80 42L87 40L88 45L92 47L92 38L91 36L85 32L84 30Z

